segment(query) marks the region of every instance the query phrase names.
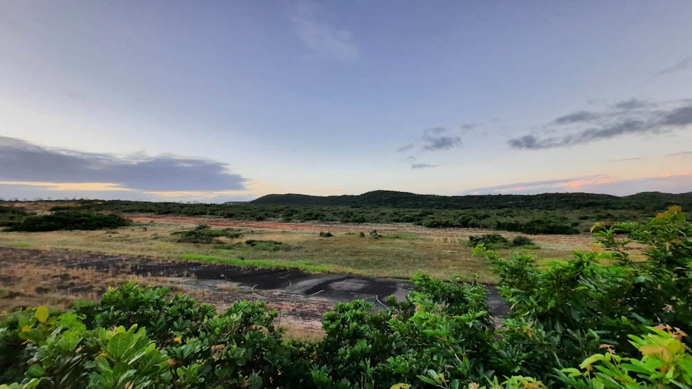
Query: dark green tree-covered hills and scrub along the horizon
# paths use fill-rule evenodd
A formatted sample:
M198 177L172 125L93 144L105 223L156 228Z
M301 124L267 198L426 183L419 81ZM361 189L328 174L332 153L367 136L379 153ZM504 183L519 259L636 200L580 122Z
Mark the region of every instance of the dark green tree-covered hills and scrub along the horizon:
M1 204L1 203L0 203ZM533 196L433 196L374 191L360 196L268 195L246 203L183 204L126 200L77 200L52 211L219 216L282 222L412 223L428 228L481 228L522 234L579 234L595 222L645 222L658 209L682 204L692 193L638 193L617 197L588 193ZM0 222L2 220L0 213ZM19 216L15 216L18 218Z

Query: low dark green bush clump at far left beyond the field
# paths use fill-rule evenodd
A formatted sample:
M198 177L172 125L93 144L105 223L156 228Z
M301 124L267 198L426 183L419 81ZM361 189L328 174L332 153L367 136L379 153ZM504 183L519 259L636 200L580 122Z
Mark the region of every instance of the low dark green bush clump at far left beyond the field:
M60 231L94 230L127 227L132 220L113 214L95 214L80 211L60 211L43 216L28 216L21 222L7 228L7 231Z

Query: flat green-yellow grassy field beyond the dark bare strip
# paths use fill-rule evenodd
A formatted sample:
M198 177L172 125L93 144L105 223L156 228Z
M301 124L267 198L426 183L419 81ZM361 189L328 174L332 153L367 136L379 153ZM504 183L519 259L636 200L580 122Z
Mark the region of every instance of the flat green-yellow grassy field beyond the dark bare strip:
M180 243L172 233L194 224L179 222L137 223L109 231L55 231L45 233L0 232L0 246L94 252L107 255L203 260L255 267L295 267L307 272L338 272L363 276L408 278L422 271L436 278L459 275L468 280L495 283L484 258L472 257L468 236L482 231L427 230L417 234L391 231L374 238L365 227L334 232L323 237L312 231L234 229L239 238L219 238L216 243ZM218 229L218 227L215 227ZM342 229L343 230L343 229ZM497 231L486 231L497 232ZM365 235L365 236L362 236ZM513 238L517 234L504 233ZM590 236L531 236L540 249L526 250L540 263L567 260L576 249L588 249ZM500 254L521 248L500 249Z

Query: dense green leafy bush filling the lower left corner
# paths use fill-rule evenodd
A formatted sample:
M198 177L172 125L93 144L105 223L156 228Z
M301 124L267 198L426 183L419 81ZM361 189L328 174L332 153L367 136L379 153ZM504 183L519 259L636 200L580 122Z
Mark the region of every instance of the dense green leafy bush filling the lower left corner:
M127 283L74 313L46 307L0 322L0 383L40 388L289 387L309 374L262 302L213 307ZM129 323L134 323L127 325ZM296 356L294 356L296 354ZM1 386L0 386L1 388Z

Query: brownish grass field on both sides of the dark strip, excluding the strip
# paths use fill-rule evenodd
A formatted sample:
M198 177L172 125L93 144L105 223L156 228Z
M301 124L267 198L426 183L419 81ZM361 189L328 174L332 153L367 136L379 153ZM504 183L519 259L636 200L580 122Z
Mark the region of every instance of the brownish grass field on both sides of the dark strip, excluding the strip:
M344 225L339 223L245 222L222 218L127 215L136 223L110 231L54 231L46 233L0 232L0 310L18 306L49 305L69 307L75 299L98 299L107 287L131 279L127 272L98 271L66 267L65 258L79 256L131 256L172 263L186 254L209 256L210 261L241 258L266 261L269 267L325 267L327 272L368 277L408 278L423 271L438 278L458 274L468 280L495 283L497 278L483 258L472 257L466 247L468 236L498 231L480 229L426 229L415 225ZM218 249L219 245L178 243L174 231L206 224L242 231L238 239L224 239L224 245L247 239L276 240L287 251L262 252L250 249ZM383 238L374 239L376 230ZM332 238L320 238L329 231ZM365 237L359 237L363 232ZM517 234L500 231L510 240ZM573 250L589 249L593 238L576 236L529 236L540 247L528 252L545 263L567 260ZM235 247L235 246L231 246ZM508 254L511 250L500 250ZM262 265L260 265L262 267ZM237 299L257 298L282 312L280 325L289 336L320 336L321 315L334 301L307 301L303 297L276 292L237 289L233 285L199 290L170 278L140 276L138 282L165 285L184 291L224 309Z

